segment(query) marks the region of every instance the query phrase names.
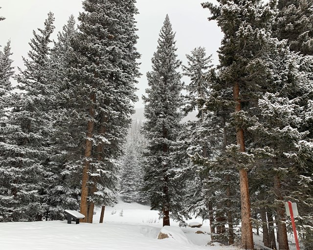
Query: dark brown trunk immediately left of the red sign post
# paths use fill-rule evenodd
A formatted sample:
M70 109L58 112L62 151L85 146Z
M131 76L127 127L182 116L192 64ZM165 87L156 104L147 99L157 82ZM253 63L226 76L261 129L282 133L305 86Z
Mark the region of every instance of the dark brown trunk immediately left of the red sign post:
M280 178L276 174L274 176L274 192L277 196L277 200L281 201L277 205L277 239L278 239L278 246L279 250L289 250L288 245L288 236L287 236L287 228L286 228L286 215L285 215L285 206L284 206L284 200L281 193L281 185L280 185Z

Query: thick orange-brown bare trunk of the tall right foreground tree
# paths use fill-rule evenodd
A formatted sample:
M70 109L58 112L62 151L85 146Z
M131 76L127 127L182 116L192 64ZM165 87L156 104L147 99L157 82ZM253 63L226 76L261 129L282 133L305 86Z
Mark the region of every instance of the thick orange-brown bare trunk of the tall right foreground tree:
M234 100L236 102L235 112L241 111L241 101L239 98L239 84L233 86ZM240 151L245 152L245 137L242 127L236 127L237 144L240 145ZM253 250L253 235L251 224L251 208L248 186L248 175L245 168L239 170L240 176L240 194L241 194L241 244L244 249Z

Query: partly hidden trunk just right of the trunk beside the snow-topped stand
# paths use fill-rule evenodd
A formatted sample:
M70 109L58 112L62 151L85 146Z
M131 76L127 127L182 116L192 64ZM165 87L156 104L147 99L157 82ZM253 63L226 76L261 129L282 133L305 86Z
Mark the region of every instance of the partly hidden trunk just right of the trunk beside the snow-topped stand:
M105 123L107 122L107 117L105 116L105 114L103 112L101 112L101 119L100 119L100 125L99 125L99 129L98 129L98 133L100 136L103 136L106 132L106 127L105 127ZM103 143L102 141L98 141L98 145L96 147L96 152L97 152L97 160L100 162L103 159L102 156L102 149L103 149ZM97 187L96 187L96 183L98 182L98 178L97 177L93 177L92 178L92 184L91 184L91 188L90 188L90 194L93 194L94 192L97 191ZM93 220L93 211L94 211L94 203L90 202L89 203L89 209L88 209L88 222L92 223Z

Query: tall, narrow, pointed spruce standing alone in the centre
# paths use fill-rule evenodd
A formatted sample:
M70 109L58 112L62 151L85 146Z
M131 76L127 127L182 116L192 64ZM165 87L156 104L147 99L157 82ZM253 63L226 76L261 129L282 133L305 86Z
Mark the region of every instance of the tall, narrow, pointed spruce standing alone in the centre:
M143 133L148 140L145 162L146 191L151 208L160 212L163 226L170 225L170 216L182 221L184 182L181 173L184 163L178 156L179 121L182 114L178 72L181 62L175 51L175 33L166 15L160 31L152 71L147 73L149 88L145 102ZM170 215L171 213L171 215Z

